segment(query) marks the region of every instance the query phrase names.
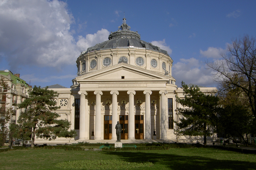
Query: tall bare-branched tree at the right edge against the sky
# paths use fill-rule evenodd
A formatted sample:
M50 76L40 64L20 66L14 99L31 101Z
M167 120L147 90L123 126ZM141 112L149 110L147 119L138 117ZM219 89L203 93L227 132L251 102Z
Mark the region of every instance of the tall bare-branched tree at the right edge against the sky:
M255 117L256 38L245 35L235 39L227 50L221 60L207 62L207 65L214 70L215 81L222 84L222 90L239 88L245 94Z

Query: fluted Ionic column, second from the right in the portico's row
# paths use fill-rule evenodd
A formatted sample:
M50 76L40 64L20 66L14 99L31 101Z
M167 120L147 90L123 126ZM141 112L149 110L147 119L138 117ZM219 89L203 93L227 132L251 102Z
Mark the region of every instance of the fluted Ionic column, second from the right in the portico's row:
M151 113L150 113L150 95L152 91L144 91L146 100L145 100L145 139L151 138Z

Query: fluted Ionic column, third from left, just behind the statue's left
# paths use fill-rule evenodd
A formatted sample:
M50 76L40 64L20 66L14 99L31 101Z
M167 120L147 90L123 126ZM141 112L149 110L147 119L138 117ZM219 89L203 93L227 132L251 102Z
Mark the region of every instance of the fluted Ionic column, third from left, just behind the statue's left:
M118 91L111 91L112 94L112 139L117 140L116 138L116 123L118 121L117 117L117 95L119 95Z

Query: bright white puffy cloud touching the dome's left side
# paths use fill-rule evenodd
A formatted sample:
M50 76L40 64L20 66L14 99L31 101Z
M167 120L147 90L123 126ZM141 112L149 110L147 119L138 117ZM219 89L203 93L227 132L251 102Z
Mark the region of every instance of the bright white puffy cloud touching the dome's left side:
M87 48L96 45L97 43L108 40L110 32L106 29L101 29L95 34L87 34L86 37L79 36L76 43L80 51L85 51Z

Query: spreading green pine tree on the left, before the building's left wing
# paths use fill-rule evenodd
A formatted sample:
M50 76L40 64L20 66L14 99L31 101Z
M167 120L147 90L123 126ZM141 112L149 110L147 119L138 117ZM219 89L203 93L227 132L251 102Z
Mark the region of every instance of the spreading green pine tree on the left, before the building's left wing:
M12 131L17 136L31 138L31 147L34 146L35 135L39 138L55 139L58 137L74 137L76 132L69 131L70 123L67 120L58 120L60 116L52 111L59 109L56 102L52 100L57 97L57 92L34 86L29 92L29 98L18 105L19 108L25 108L18 119L20 126L13 126Z

